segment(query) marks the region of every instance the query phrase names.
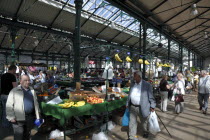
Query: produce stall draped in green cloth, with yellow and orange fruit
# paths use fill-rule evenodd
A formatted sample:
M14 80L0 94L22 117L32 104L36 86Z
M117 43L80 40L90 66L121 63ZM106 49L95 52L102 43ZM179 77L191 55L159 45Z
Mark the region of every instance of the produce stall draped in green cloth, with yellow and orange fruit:
M106 94L101 93L99 89L97 89L96 92L94 92L95 90L75 90L70 92L67 90L69 88L61 90L60 88L61 87L57 88L59 89L59 92L54 89L49 90L53 90L54 92L57 91L57 94L52 94L49 91L39 94L38 100L40 102L42 114L45 118L50 118L50 120L52 118L56 119L54 124L63 129L64 135L74 134L76 131L81 131L82 129L107 122L112 111L126 105L127 94L119 92L121 90L117 87L108 88L106 100ZM118 89L118 91L115 91L114 89ZM128 89L124 90L127 91ZM64 98L61 99L60 97ZM59 98L60 101L56 104L49 104L49 102L55 98ZM77 126L74 124L75 118L86 120L87 117L92 116L97 116L97 119L90 123L86 123L86 121L85 123L79 123Z

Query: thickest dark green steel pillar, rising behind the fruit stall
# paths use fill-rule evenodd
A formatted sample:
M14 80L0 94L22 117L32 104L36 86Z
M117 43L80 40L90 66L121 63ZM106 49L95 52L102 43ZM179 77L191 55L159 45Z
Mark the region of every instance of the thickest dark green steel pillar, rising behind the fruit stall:
M75 30L74 30L74 82L80 82L80 43L81 43L81 11L82 11L82 4L83 0L75 0L75 7L76 7L76 19L75 19Z

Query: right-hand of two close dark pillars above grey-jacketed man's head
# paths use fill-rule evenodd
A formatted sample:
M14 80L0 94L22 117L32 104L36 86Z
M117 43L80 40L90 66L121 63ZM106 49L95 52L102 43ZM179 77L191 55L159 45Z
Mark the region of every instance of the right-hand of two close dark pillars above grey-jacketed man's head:
M143 23L143 71L142 71L142 78L145 79L146 74L146 65L145 65L145 56L146 56L146 39L147 39L147 24Z

